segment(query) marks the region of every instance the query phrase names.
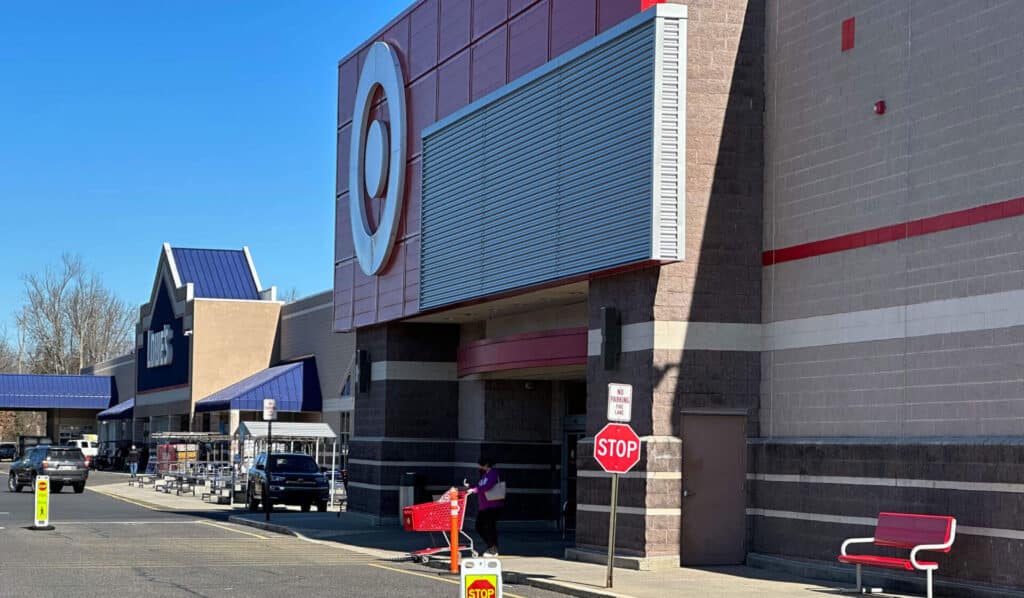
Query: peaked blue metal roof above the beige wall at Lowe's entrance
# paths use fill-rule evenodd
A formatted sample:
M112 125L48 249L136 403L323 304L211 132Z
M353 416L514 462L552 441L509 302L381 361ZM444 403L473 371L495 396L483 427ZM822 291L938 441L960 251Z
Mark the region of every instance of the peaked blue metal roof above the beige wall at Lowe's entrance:
M234 249L171 248L181 284L193 284L196 297L259 299L246 253Z

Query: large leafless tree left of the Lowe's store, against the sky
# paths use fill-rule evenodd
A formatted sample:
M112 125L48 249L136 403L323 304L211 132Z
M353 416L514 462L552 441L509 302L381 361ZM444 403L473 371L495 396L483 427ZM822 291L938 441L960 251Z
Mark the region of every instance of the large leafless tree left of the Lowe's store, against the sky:
M106 289L78 256L24 276L26 303L16 321L28 369L77 374L131 349L133 310Z

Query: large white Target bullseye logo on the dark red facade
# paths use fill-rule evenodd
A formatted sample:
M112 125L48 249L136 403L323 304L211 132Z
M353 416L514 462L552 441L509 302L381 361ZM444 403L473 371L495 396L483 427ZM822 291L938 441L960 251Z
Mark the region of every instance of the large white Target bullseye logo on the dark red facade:
M388 122L371 121L377 91L387 98ZM398 54L386 42L370 47L359 72L352 114L348 211L359 268L377 274L394 249L406 195L406 84ZM383 201L377 229L370 226L367 198Z

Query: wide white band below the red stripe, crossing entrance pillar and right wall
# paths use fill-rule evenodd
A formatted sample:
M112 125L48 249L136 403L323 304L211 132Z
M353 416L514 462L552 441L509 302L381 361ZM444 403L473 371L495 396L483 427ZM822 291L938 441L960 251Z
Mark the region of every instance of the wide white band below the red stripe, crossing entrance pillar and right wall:
M623 327L623 351L778 351L1024 326L1024 290L783 319L764 325L644 322ZM587 335L601 354L601 331Z

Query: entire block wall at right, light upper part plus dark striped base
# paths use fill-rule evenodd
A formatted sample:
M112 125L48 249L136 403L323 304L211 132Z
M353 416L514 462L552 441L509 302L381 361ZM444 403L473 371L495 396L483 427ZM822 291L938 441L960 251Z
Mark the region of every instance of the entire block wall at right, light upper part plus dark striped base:
M949 514L940 576L1024 586L1022 28L1012 0L769 3L754 552Z

